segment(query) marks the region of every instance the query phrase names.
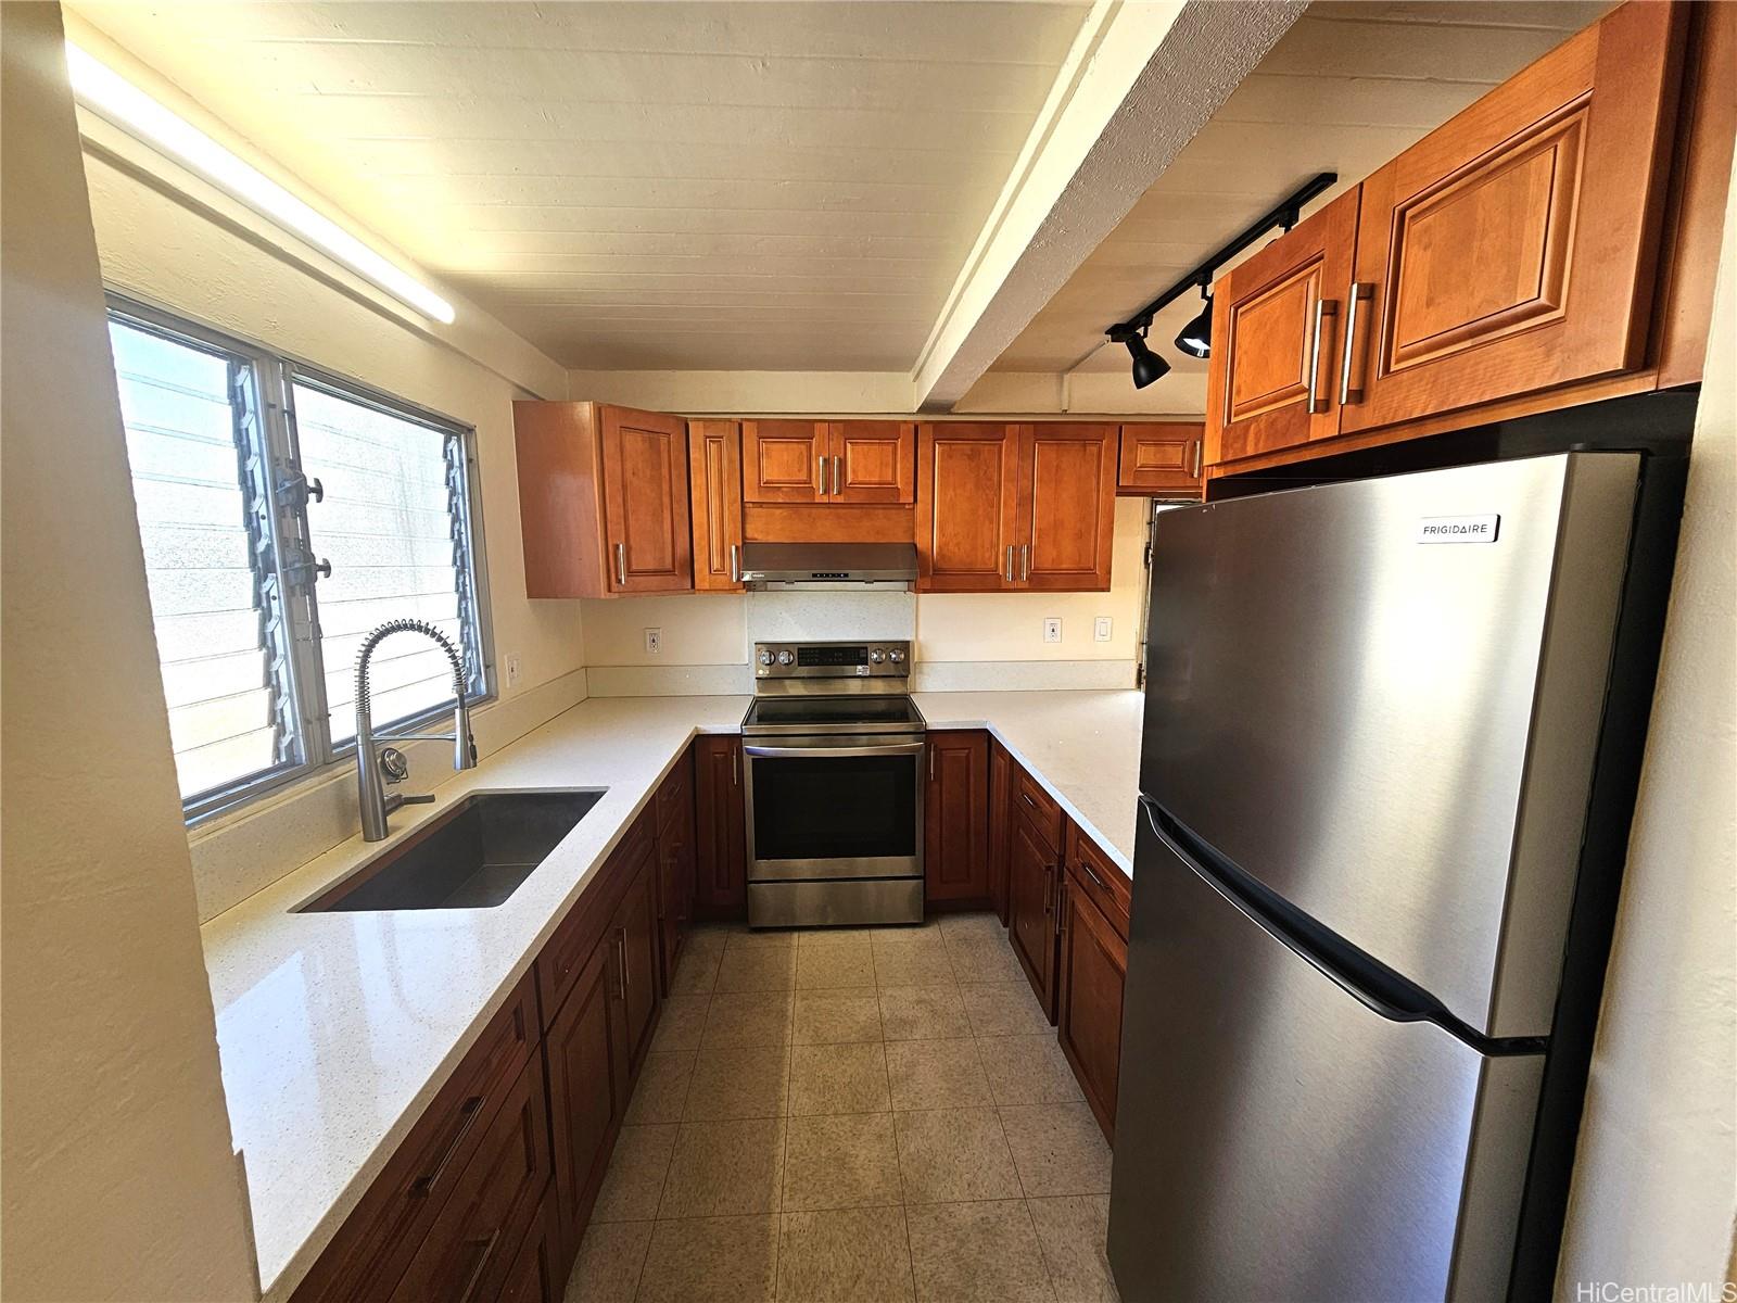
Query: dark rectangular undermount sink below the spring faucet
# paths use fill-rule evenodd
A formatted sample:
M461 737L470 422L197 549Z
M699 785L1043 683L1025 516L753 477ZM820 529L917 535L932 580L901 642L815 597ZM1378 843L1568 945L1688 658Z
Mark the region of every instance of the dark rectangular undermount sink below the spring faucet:
M518 891L606 790L472 792L295 912L492 909Z

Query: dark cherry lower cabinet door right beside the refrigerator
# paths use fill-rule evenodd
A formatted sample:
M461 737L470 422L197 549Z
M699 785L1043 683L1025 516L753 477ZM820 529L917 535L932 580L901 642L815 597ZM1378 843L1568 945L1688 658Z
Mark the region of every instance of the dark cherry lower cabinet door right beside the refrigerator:
M1056 1035L1073 1065L1086 1103L1108 1140L1115 1140L1115 1082L1122 1063L1122 987L1127 942L1093 905L1086 884L1070 872L1061 893L1061 971Z

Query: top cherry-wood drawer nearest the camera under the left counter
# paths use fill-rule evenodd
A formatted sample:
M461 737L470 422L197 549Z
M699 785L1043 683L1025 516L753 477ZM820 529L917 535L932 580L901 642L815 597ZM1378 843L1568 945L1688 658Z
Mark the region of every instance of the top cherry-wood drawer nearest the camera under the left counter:
M393 1293L490 1121L505 1107L509 1086L519 1077L540 1081L540 1070L523 1072L537 1035L535 987L526 973L314 1263L295 1303Z

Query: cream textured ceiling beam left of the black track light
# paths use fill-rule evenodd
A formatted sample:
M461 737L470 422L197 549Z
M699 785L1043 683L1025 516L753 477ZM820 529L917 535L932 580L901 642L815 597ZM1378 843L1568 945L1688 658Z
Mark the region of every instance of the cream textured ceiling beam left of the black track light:
M912 370L957 403L1219 104L1304 0L1098 0Z

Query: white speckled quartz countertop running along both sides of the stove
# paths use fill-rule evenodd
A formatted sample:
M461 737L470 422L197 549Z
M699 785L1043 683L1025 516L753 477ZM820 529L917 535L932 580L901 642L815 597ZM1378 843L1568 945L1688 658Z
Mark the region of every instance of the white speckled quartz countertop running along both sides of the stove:
M1138 691L917 693L931 728L987 728L1133 874ZM422 1108L505 1002L556 923L695 733L733 733L747 697L591 698L431 806L478 789L606 787L495 909L295 914L391 843L353 837L203 928L224 1093L247 1164L259 1273L287 1300Z

